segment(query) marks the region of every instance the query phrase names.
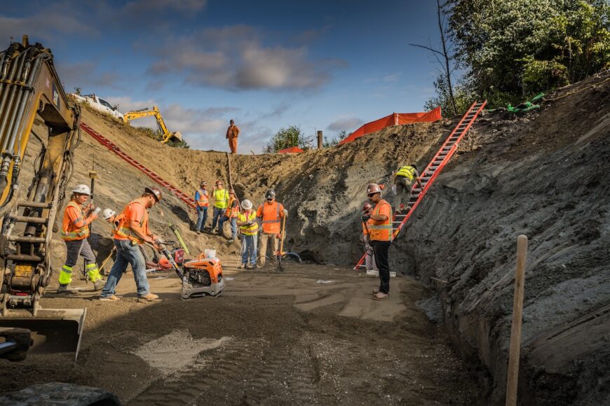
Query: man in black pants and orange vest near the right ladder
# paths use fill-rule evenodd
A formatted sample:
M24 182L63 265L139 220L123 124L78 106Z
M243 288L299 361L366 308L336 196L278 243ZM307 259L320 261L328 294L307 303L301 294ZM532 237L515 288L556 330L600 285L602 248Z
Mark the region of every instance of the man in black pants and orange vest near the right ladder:
M375 208L371 214L362 215L362 223L372 220L369 228L370 244L379 267L379 289L373 289L373 299L383 300L390 295L388 251L392 241L392 207L381 199L381 188L377 183L370 183L367 186L367 195Z

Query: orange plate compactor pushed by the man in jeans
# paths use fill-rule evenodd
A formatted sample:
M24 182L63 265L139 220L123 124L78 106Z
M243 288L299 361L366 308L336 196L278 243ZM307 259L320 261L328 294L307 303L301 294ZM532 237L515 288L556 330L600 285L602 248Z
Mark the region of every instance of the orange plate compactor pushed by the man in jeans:
M206 258L201 253L197 258L184 260L184 250L175 248L170 252L168 248L161 250L164 258L159 258L154 262L154 269L169 270L174 269L180 279L182 279L182 290L180 297L182 300L191 297L218 296L224 290L224 279L222 277L222 265L218 258Z

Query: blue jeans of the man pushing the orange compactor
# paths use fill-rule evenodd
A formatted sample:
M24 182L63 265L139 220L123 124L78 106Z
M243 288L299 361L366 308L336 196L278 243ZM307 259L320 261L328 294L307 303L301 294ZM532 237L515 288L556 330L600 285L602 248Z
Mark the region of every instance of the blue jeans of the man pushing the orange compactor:
M127 265L131 265L133 270L133 279L135 279L135 286L137 286L137 296L142 297L149 294L148 279L146 278L146 262L144 261L144 255L140 251L140 246L131 245L131 241L128 239L115 239L114 245L116 246L116 260L110 274L106 280L106 285L102 289L102 297L110 297L114 295L114 288L116 284L121 280L123 272L127 269Z

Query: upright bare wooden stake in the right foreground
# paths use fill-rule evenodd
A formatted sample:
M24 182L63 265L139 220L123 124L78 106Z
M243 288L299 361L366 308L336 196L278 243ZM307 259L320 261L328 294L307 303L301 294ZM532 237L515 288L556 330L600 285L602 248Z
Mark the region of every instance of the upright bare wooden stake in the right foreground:
M515 300L513 301L513 326L510 329L508 349L508 373L506 377L506 406L517 405L519 358L521 353L521 316L523 314L523 288L525 283L525 259L527 237L517 237L517 270L515 271Z

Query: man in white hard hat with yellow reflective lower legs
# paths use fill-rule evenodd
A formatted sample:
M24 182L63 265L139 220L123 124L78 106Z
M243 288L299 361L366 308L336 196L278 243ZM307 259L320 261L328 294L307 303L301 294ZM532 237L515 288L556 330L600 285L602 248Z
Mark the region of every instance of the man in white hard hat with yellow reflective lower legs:
M60 287L57 293L76 293L72 289L72 268L76 265L79 256L85 258L85 267L89 280L93 282L93 290L100 290L104 284L100 271L95 263L95 254L91 250L89 241L89 225L97 218L97 211L93 211L93 204L85 206L91 190L87 185L79 185L72 190L72 197L64 211L60 237L66 243L66 262L60 272Z

